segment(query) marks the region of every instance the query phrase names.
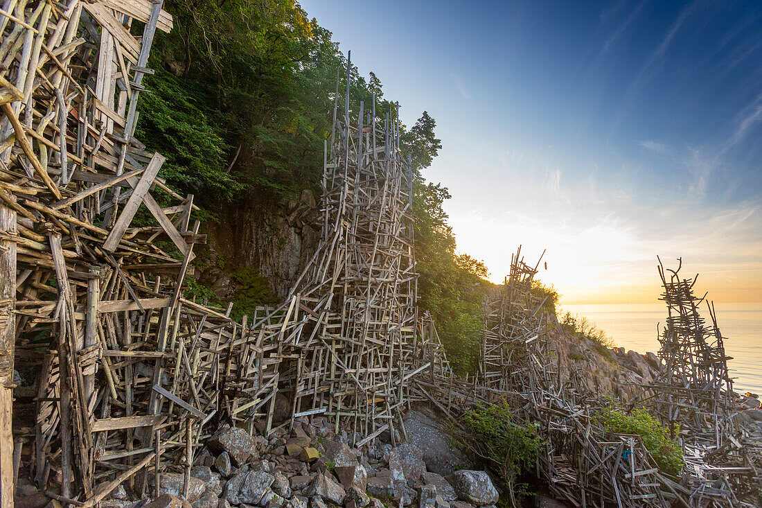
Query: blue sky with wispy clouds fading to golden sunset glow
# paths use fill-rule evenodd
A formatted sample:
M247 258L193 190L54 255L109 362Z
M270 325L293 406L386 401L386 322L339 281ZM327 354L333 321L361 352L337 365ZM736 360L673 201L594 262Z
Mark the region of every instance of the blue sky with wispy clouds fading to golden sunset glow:
M681 256L762 302L762 2L300 3L437 121L424 176L492 281L522 245L564 304L655 303Z

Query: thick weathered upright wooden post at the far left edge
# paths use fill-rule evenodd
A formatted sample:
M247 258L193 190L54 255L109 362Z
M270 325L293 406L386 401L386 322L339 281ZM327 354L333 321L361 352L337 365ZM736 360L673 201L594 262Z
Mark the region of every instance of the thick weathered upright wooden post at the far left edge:
M16 212L0 204L0 506L13 508L13 362L16 336Z

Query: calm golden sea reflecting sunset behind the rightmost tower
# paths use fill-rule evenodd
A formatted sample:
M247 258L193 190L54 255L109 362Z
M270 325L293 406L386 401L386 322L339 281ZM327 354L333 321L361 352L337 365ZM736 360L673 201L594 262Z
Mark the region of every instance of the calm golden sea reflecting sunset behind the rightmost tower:
M717 324L725 338L725 352L733 389L762 395L762 304L715 304ZM587 317L613 339L616 346L637 352L658 352L658 328L664 326L663 304L563 305L562 310ZM706 304L700 308L711 322Z

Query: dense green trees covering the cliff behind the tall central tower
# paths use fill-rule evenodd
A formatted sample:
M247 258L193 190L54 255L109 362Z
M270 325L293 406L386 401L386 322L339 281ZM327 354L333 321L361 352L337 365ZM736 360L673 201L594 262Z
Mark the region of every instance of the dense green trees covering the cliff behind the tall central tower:
M286 201L304 188L318 190L337 69L344 117L347 58L331 32L293 0L166 0L164 8L174 28L156 34L149 62L155 73L144 81L138 122L139 139L167 157L162 176L194 193L212 217L251 200ZM360 101L365 111L375 101L379 121L398 116L399 104L384 96L376 74L366 79L356 66L349 72L350 118L357 118ZM424 111L401 129L415 179L420 305L434 315L456 371L474 372L487 270L456 252L442 207L450 193L421 175L442 148L435 128ZM232 278L240 285L234 314L270 301L252 273Z

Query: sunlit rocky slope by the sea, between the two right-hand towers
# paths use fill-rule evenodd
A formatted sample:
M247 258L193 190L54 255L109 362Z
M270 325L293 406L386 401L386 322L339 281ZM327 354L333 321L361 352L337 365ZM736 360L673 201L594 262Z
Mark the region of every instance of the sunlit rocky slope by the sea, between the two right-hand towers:
M562 376L571 378L576 372L588 390L621 400L629 400L639 394L642 384L651 383L661 365L660 359L652 352L642 355L635 351L625 352L624 348L613 348L609 349L610 356L601 354L599 345L589 339L572 336L557 321L551 325L549 340L559 355Z

